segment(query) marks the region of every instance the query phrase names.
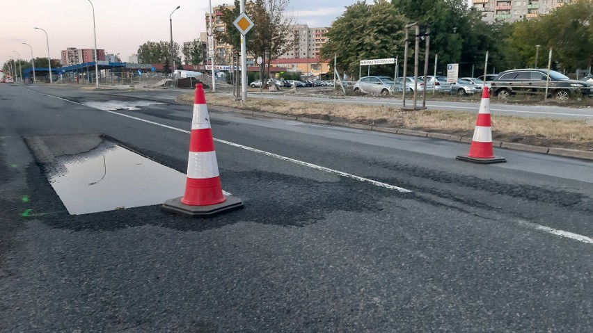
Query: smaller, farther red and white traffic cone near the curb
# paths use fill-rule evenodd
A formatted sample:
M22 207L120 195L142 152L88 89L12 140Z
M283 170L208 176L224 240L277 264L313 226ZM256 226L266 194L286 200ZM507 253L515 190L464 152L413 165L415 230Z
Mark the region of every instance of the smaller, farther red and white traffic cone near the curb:
M492 148L492 128L490 120L490 93L488 87L482 92L482 102L477 113L475 131L471 141L470 152L467 156L457 156L460 161L491 164L502 163L507 160L504 157L494 156Z

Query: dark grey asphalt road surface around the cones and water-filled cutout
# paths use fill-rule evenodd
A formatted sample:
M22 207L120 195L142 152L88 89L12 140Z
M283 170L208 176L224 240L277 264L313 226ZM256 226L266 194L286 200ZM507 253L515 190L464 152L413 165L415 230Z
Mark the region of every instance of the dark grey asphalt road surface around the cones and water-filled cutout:
M461 143L211 107L244 209L68 215L23 137L104 133L185 172L192 108L174 95L0 85L1 332L593 327L591 161L475 165Z

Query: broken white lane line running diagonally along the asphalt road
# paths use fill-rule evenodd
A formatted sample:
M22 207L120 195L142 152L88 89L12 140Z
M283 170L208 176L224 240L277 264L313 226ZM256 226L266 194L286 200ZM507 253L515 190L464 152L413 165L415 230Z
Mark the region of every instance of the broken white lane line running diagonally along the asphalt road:
M33 90L31 90L31 91L33 91ZM53 98L57 98L57 99L62 99L63 101L69 101L68 99L63 99L61 97L56 97L56 96L51 96L51 95L45 95L45 94L41 94L41 95L44 95L44 96L47 96L47 97L53 97ZM80 103L78 103L76 101L69 101L69 102L70 103L74 103L74 104L84 105L84 104L80 104ZM145 120L145 119L142 119L142 118L139 118L139 117L134 117L132 115L126 115L126 114L123 114L123 113L118 113L118 112L109 111L109 110L103 110L103 111L109 112L109 113L113 113L114 115L121 115L122 117L128 117L128 118L134 119L134 120L139 120L141 122L146 122L148 124L154 124L154 125L157 125L157 126L160 126L160 127L164 127L166 129L173 129L174 131L180 131L182 133L187 133L187 134L190 134L191 133L191 131L187 131L187 130L184 130L184 129L178 129L177 127L168 126L166 124L161 124L159 122L151 122L150 120ZM374 186L380 186L380 187L388 188L390 190L397 190L397 191L402 192L402 193L411 193L411 190L406 190L405 188L400 188L398 186L393 186L393 185L390 185L390 184L381 183L379 181L374 181L372 179L358 177L358 176L355 176L354 174L348 174L346 172L341 172L341 171L338 171L338 170L333 170L333 169L325 168L325 167L322 167L320 165L315 165L313 163L308 163L308 162L299 161L299 160L296 160L296 159L291 159L290 157L281 156L281 155L274 154L274 153L271 153L271 152L265 152L265 151L260 150L260 149L255 149L255 148L252 148L252 147L247 147L247 146L244 146L244 145L239 145L237 143L231 143L230 141L220 140L220 139L216 139L216 138L214 138L214 141L219 142L219 143L223 143L225 145L230 145L230 146L233 146L233 147L237 147L237 148L241 148L241 149L246 149L246 150L248 150L250 152L256 152L256 153L259 153L259 154L264 154L266 156L274 157L276 159L281 159L283 161L288 161L288 162L292 162L292 163L297 163L299 165L304 165L304 166L306 166L308 168L314 168L316 170L321 170L321 171L324 171L324 172L329 172L331 174L338 174L338 175L340 175L342 177L347 177L347 178L355 179L355 180L358 180L358 181L364 181L364 182L373 184ZM564 237L564 238L569 238L569 239L572 239L574 241L579 241L579 242L582 242L582 243L593 244L593 238L589 238L587 236L583 236L583 235L580 235L580 234L574 234L573 232L565 232L564 230L553 229L551 227L546 227L544 225L537 225L535 223L527 222L527 221L523 221L523 220L519 221L519 225L522 225L523 227L528 227L530 229L535 229L535 230L538 230L538 231L547 232L548 234L553 234L555 236L561 236L561 237Z

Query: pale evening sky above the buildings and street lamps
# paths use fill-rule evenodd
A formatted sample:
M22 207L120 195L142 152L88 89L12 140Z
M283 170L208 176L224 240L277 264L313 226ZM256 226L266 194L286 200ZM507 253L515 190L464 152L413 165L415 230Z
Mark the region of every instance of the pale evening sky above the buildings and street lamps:
M149 40L171 39L169 18L173 19L173 40L179 44L200 37L206 31L205 13L209 0L90 0L95 7L97 49L120 54L122 61L135 54ZM210 0L212 7L234 0ZM298 24L330 26L357 0L290 0L286 12ZM68 47L93 49L93 7L88 0L1 0L0 64L10 57L29 60L47 58L46 35L52 59L61 58ZM178 10L173 13L177 6Z

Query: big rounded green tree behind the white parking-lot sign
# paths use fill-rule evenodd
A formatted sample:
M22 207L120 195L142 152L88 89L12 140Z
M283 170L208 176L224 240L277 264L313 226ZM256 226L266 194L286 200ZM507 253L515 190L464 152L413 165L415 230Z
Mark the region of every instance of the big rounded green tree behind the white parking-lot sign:
M406 19L386 0L358 1L347 6L328 29L321 56L329 60L335 55L340 72L358 76L361 60L403 55L405 24ZM373 67L373 72L393 75L393 65Z

